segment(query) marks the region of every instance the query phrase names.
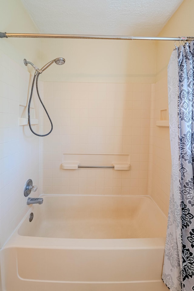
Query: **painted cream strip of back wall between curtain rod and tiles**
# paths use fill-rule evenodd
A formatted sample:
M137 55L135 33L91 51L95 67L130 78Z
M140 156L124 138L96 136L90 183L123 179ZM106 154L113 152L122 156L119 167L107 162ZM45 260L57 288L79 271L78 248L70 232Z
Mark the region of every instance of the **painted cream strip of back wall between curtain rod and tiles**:
M65 65L52 65L42 81L153 83L155 79L154 41L42 39L41 65L57 57L64 57Z

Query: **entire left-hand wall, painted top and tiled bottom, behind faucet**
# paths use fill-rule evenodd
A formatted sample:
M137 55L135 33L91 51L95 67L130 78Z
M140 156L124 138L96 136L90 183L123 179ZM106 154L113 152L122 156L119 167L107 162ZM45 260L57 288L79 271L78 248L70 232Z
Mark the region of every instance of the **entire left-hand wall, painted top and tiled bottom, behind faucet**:
M38 32L19 0L1 2L0 27L2 32ZM24 58L40 63L40 40L0 39L0 247L29 209L23 194L26 180L39 186L39 138L27 126L18 126L27 108L29 71L34 70L25 67ZM39 118L39 104L32 106Z

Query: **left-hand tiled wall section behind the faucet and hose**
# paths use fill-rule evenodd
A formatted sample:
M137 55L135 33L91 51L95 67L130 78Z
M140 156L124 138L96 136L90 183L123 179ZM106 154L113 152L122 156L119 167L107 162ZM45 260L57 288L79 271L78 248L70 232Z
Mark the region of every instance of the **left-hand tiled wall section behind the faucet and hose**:
M18 126L26 113L29 81L26 69L0 51L0 248L29 209L26 180L39 186L39 138L28 126ZM32 106L39 118L39 105Z

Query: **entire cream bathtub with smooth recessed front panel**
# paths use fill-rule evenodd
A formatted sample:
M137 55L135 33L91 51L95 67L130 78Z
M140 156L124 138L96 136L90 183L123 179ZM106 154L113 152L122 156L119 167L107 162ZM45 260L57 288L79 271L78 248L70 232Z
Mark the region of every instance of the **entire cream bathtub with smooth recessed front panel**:
M2 291L165 291L167 219L148 196L42 195L1 250Z

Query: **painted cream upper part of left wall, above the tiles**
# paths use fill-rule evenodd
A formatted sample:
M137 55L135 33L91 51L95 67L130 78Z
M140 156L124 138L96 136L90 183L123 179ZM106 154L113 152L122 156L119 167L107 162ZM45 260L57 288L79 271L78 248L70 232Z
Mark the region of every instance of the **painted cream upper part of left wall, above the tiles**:
M1 32L38 33L20 0L2 0L0 9ZM40 39L38 38L1 38L2 52L10 56L23 67L27 59L37 66L40 65ZM34 74L34 69L27 66L26 70Z

